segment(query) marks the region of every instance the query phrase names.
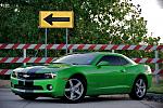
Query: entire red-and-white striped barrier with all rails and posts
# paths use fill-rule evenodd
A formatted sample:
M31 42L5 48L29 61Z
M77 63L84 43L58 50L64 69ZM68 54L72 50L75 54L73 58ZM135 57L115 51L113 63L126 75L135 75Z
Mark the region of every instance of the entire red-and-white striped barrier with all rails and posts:
M93 51L105 51L105 50L142 50L142 51L154 51L155 58L131 58L136 63L154 63L155 69L154 75L163 73L162 69L159 69L158 64L163 63L163 58L159 58L158 51L163 51L163 45L116 45L116 44L0 44L0 50L23 50L23 57L0 57L0 64L2 63L51 63L55 57L27 57L26 50L66 50L72 52L73 50L93 50ZM10 75L12 69L0 69L0 75Z

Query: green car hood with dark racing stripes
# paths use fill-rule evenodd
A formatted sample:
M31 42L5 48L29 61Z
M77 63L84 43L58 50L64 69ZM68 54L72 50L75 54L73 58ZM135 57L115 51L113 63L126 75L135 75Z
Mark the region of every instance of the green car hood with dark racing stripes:
M16 72L25 72L25 73L46 73L46 72L57 72L62 69L66 69L72 67L66 64L50 64L42 66L25 66L14 69Z

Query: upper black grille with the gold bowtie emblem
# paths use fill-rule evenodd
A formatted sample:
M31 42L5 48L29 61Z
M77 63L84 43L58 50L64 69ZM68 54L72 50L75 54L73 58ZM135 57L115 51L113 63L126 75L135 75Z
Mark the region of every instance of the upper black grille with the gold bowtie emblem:
M41 80L46 79L45 73L24 73L24 72L18 72L17 78L22 80Z

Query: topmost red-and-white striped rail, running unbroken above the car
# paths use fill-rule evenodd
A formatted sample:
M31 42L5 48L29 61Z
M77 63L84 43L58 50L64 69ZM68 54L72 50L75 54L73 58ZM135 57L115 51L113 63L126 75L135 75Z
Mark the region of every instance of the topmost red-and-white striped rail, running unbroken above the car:
M0 49L65 50L66 44L0 44ZM163 45L67 44L68 50L163 50Z

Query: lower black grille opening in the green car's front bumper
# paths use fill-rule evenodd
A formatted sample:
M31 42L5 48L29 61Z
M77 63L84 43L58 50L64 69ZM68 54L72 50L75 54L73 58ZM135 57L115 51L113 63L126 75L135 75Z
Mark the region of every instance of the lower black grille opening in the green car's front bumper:
M15 89L21 89L21 90L43 90L42 86L39 85L14 85Z

